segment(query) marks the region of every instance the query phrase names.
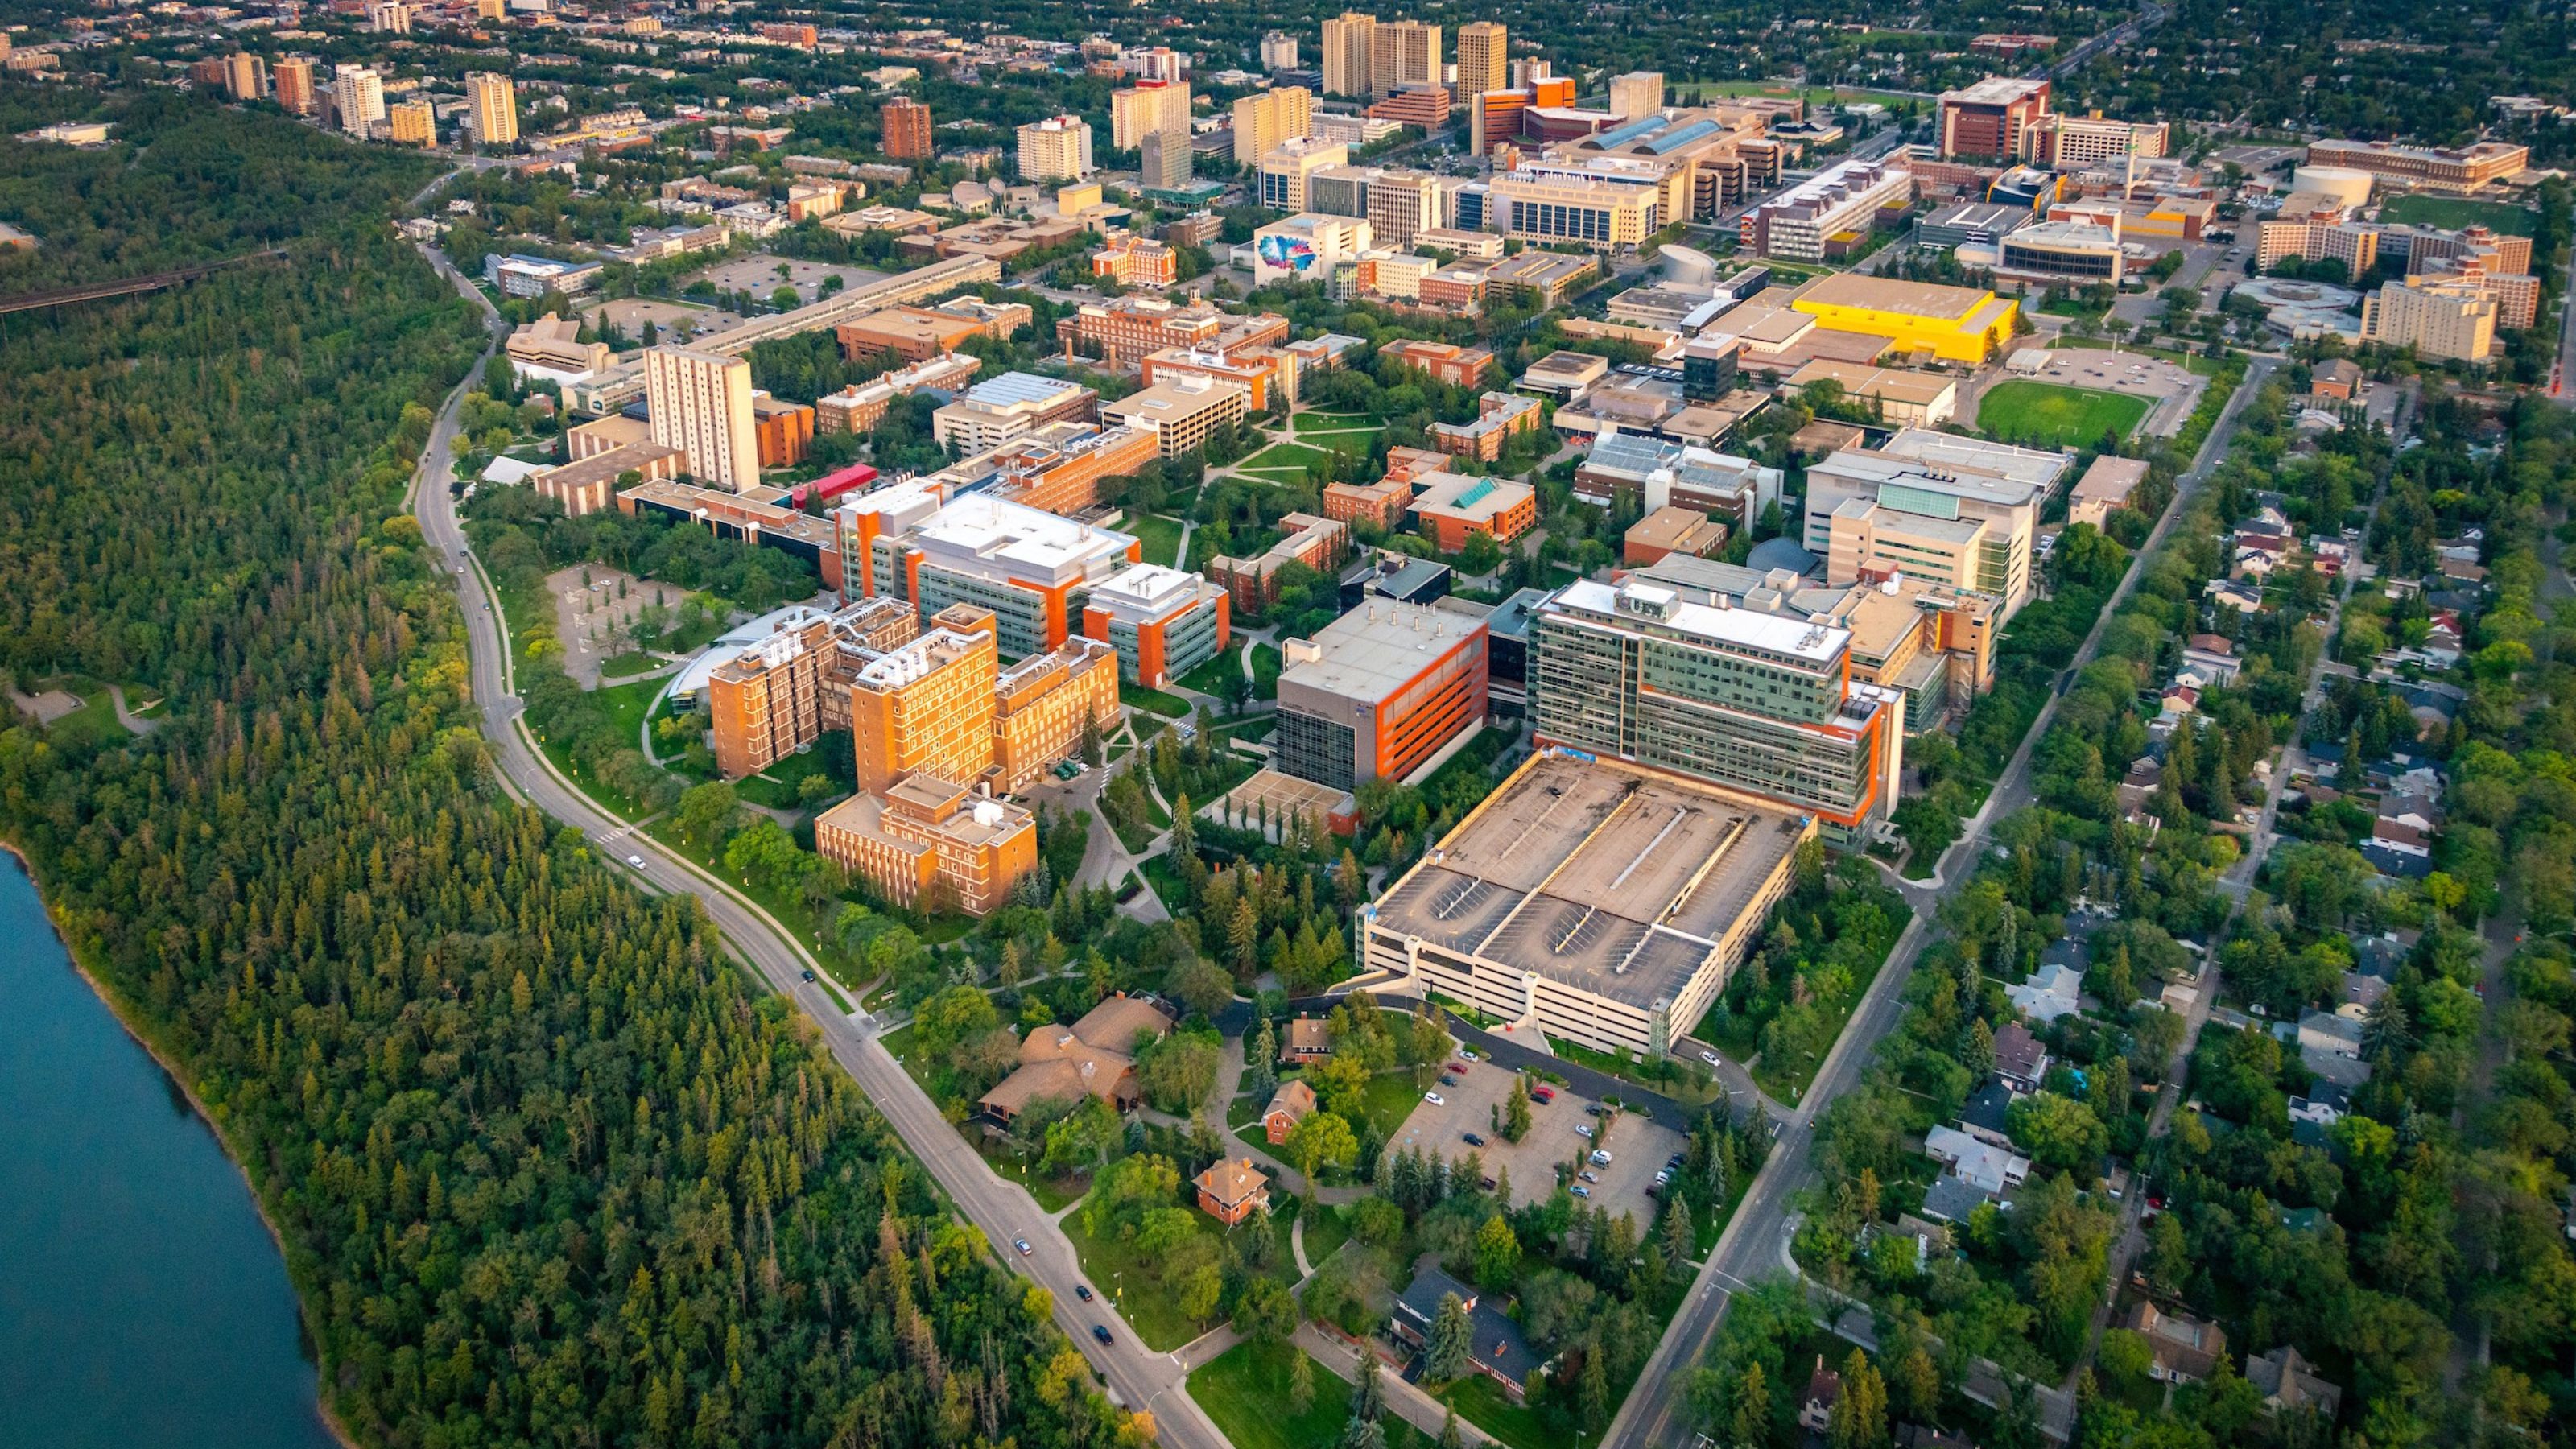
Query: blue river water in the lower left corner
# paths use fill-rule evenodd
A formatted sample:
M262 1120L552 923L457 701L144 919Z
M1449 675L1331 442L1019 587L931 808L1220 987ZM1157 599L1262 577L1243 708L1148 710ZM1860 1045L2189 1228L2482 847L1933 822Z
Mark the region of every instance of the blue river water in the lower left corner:
M250 1186L0 853L0 1449L332 1449Z

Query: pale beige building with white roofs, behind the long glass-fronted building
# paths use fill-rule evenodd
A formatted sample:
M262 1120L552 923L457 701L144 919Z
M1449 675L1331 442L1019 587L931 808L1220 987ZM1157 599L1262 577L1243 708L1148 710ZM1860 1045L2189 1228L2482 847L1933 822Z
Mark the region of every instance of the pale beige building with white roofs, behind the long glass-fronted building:
M1803 541L1829 585L1886 567L1991 593L2009 621L2035 588L2040 505L2071 469L2074 454L1904 428L1808 467Z

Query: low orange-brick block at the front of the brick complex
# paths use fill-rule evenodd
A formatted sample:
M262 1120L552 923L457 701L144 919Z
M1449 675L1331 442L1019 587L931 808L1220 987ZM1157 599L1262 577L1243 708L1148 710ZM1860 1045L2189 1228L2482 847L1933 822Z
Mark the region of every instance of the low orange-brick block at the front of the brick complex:
M896 905L987 915L1036 869L1038 817L1025 804L917 773L817 815L814 851Z

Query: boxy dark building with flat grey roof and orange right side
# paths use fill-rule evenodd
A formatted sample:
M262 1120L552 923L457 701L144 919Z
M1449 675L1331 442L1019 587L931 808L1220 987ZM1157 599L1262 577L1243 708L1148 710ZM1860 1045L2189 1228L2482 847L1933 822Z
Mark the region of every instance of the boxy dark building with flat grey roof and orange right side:
M1486 714L1484 619L1373 598L1280 645L1270 766L1332 789L1422 768Z

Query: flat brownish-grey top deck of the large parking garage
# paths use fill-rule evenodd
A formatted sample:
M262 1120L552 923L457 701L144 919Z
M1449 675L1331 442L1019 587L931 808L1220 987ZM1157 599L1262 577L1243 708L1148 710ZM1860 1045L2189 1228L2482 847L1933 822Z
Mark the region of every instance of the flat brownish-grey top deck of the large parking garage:
M1378 900L1381 928L1654 1008L1798 848L1808 820L1540 753Z

